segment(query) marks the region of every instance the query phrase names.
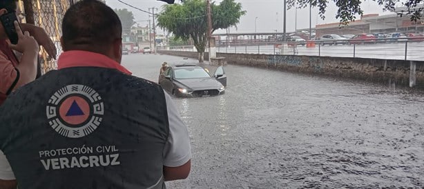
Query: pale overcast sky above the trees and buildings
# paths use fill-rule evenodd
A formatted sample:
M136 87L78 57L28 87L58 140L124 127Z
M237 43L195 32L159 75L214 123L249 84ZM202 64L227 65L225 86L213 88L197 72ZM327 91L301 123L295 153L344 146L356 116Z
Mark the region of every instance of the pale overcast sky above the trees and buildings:
M137 8L148 11L148 8L156 7L161 10L162 6L166 3L162 1L155 0L122 0L125 3L131 4ZM215 1L220 2L221 0ZM282 0L236 0L237 2L242 3L243 10L247 11L247 14L240 19L238 28L231 28L230 32L255 32L255 25L257 32L282 32L283 28L283 1ZM117 0L106 0L106 4L112 8L127 8L132 11L135 17L135 21L140 23L140 25L146 25L148 20L148 14L129 6L126 6L123 3L120 3ZM364 14L389 14L389 12L383 12L383 7L378 6L374 1L363 1L362 8ZM333 1L329 3L327 12L325 14L325 20L320 19L318 16L318 8L313 8L311 11L311 24L312 28L316 24L322 23L334 23L338 22L335 18L336 16L336 5ZM298 9L297 10L297 21L295 9L291 8L287 10L287 23L286 30L287 32L293 32L295 27L300 28L309 28L309 8ZM258 17L257 23L256 17ZM359 17L358 17L359 19ZM296 24L297 23L297 26ZM309 29L307 29L309 30ZM160 33L160 31L158 31ZM215 33L220 33L224 31L216 31Z

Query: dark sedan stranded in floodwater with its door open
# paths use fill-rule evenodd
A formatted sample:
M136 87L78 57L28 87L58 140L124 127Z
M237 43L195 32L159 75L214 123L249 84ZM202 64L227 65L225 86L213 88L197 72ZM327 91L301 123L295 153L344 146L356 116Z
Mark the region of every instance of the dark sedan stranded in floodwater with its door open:
M176 97L209 97L224 94L227 76L218 67L213 77L200 66L176 65L159 75L159 84Z

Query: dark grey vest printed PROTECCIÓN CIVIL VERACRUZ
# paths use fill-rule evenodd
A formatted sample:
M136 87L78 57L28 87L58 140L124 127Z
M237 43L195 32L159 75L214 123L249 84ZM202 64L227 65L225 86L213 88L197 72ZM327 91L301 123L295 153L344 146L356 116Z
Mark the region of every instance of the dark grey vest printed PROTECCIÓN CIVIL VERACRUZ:
M164 188L160 86L108 68L48 72L0 108L19 188ZM3 134L7 135L3 135Z

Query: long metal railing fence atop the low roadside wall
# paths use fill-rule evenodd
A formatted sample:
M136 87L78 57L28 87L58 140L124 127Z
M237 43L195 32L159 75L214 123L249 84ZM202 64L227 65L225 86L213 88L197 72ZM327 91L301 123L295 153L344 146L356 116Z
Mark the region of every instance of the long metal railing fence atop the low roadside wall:
M164 47L162 50L195 51L193 46ZM308 41L288 43L251 43L218 46L216 52L241 54L285 54L318 57L358 57L423 61L424 37L385 39L385 41Z

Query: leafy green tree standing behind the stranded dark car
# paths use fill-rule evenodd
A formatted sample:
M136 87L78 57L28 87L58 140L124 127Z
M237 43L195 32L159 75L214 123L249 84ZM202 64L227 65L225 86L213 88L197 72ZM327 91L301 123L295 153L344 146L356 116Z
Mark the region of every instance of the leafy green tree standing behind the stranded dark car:
M211 4L212 30L236 26L240 17L246 14L240 3L224 0L219 5ZM157 15L157 26L172 32L175 39L192 39L199 61L203 62L206 49L207 17L205 0L184 0L182 4L165 5Z

